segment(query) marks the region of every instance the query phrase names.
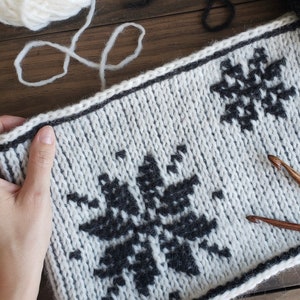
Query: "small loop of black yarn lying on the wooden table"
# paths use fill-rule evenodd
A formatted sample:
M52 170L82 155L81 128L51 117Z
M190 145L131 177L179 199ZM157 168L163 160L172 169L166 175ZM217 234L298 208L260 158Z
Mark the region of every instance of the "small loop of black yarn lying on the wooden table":
M210 10L212 9L212 6L213 6L215 0L206 0L206 2L207 2L207 6L204 9L204 12L202 14L203 27L207 31L210 31L210 32L216 32L216 31L220 31L222 29L227 28L235 17L235 8L234 8L234 5L231 3L231 1L230 0L219 0L219 2L223 3L226 6L226 9L228 10L229 15L224 23L222 23L220 25L216 25L216 26L211 26L207 22L207 19L210 14Z

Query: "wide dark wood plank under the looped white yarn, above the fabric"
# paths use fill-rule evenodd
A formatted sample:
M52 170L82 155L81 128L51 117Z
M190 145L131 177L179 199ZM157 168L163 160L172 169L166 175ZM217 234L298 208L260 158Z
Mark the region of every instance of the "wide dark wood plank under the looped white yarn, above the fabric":
M272 6L272 9L269 9ZM236 18L230 28L218 33L207 33L200 23L200 13L189 12L153 19L141 20L146 29L144 49L141 56L118 72L107 73L108 86L129 79L183 57L210 44L214 40L232 36L246 28L256 26L280 16L286 10L284 2L263 0L236 6ZM222 8L212 10L211 17L220 20L226 12ZM175 25L176 24L176 25ZM101 51L114 30L115 25L89 28L81 37L77 53L93 61L99 61ZM45 34L43 40L68 45L74 31ZM100 90L97 70L89 69L72 60L69 73L51 85L39 88L25 87L16 77L13 62L30 37L0 42L0 114L17 114L30 117L41 112L63 107L92 96ZM131 53L137 40L137 31L126 30L110 54L109 62L116 63ZM63 54L53 49L41 48L32 51L23 63L28 80L40 80L61 72ZM82 76L84 74L84 76Z

